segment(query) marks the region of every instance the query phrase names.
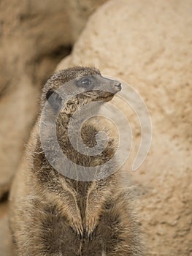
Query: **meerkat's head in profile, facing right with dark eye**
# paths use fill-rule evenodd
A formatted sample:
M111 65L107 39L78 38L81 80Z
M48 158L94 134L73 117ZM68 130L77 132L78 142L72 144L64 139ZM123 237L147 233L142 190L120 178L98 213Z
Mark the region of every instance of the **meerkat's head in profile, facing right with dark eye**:
M88 102L108 102L120 90L120 82L104 78L98 69L73 67L53 75L42 95L53 110L74 113Z

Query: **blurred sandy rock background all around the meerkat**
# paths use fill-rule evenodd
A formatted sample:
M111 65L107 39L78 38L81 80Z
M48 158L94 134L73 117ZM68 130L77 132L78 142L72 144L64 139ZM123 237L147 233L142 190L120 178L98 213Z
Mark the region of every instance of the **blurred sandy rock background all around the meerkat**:
M7 197L55 70L94 66L130 83L153 123L137 172L147 255L192 255L192 1L0 0L0 255L12 255ZM137 117L115 99L134 135ZM22 184L21 184L22 185Z

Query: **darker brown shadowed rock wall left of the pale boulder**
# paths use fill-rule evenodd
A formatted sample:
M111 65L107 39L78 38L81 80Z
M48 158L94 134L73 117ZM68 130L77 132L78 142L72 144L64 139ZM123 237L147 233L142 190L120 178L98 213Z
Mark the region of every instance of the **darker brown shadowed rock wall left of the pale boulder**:
M9 189L37 115L37 98L99 1L1 1L0 198Z

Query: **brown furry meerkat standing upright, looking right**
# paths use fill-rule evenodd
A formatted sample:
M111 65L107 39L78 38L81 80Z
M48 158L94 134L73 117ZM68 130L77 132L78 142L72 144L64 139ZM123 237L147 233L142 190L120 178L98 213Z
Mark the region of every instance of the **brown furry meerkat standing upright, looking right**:
M88 88L61 108L62 97L56 90L64 85L67 93L69 88L65 84L69 81L71 90ZM101 83L110 92L99 90ZM47 160L39 135L40 116L48 102L53 113L59 109L56 134L67 158L77 165L102 166L114 157L114 139L110 138L104 151L96 156L81 154L70 143L67 127L83 105L99 100L108 102L120 89L118 81L102 77L98 69L91 67L61 70L43 87L39 118L9 195L9 226L15 255L143 255L139 227L131 210L131 192L123 183L120 170L93 181L66 177ZM82 126L82 140L88 147L96 145L99 125L86 121ZM100 171L107 172L102 167Z

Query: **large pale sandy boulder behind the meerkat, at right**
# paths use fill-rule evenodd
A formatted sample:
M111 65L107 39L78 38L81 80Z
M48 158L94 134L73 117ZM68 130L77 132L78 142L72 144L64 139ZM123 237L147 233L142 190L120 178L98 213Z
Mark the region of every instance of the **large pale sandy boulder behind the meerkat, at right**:
M190 0L108 1L57 67L98 67L134 86L145 99L153 140L150 154L134 173L130 169L139 148L139 122L118 97L114 104L126 114L134 135L123 168L138 186L147 255L192 254L191 12Z

